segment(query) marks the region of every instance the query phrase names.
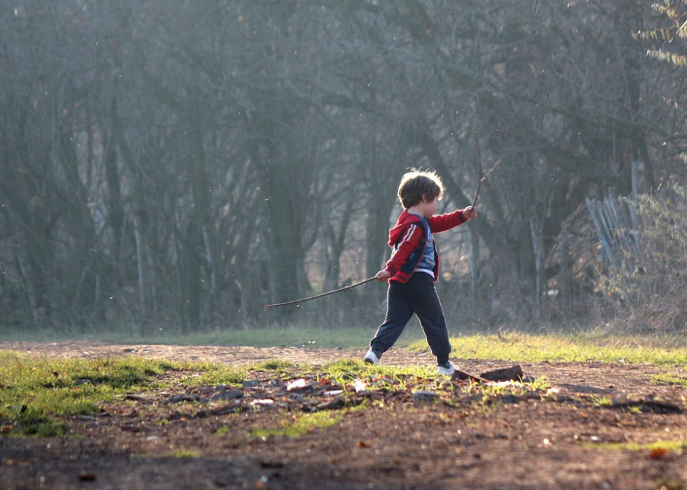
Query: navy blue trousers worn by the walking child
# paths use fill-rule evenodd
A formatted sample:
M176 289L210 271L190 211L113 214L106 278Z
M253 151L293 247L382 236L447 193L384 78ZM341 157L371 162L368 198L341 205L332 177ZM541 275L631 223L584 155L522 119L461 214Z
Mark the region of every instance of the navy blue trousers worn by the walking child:
M416 315L437 362L449 360L451 343L444 311L432 275L416 272L407 283L389 282L386 296L386 318L379 325L371 348L380 353L388 351L398 340L413 315Z

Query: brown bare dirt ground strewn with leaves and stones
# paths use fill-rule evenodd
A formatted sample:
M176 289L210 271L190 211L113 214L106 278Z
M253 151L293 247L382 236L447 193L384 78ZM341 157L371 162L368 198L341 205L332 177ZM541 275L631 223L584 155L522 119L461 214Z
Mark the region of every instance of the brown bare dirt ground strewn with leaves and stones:
M251 371L245 386L231 389L191 388L179 374L174 389L132 394L69 420L61 437L0 435L0 489L687 490L687 390L655 377L685 380L681 367L526 362L524 375L545 377L549 389L496 395L458 381L427 388L432 380L363 379L358 393L337 393L319 366L364 352L86 341L0 349L297 364L286 376ZM402 349L383 358L397 366L432 361ZM512 365L454 362L475 374ZM255 433L325 410L341 421L297 437ZM676 444L649 447L655 442Z

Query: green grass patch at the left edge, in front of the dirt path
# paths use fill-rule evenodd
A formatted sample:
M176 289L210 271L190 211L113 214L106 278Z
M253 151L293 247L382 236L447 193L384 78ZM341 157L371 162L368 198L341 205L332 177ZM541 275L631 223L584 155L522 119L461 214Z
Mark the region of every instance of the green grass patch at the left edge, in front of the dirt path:
M156 381L156 376L182 370L200 372L189 384L245 379L222 365L136 357L42 360L0 352L1 430L10 435L60 435L67 430L64 417L93 414L98 404L123 393L161 388L163 383Z

